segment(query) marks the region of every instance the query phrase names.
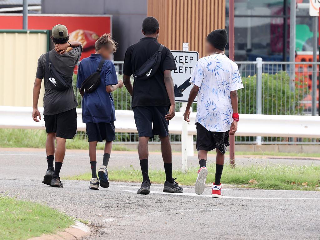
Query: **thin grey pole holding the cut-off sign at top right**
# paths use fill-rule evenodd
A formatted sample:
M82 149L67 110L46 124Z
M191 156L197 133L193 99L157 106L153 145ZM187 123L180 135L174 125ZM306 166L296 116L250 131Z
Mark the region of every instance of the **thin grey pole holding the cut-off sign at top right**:
M312 17L313 27L313 61L317 61L317 33L318 33L318 17ZM312 67L312 116L316 116L316 98L317 98L317 65Z

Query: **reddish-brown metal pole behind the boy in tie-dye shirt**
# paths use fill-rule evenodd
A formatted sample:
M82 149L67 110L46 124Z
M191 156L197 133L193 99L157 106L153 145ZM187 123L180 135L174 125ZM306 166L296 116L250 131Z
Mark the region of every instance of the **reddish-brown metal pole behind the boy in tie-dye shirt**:
M235 60L235 0L229 1L229 58ZM235 166L235 135L229 136L229 164Z

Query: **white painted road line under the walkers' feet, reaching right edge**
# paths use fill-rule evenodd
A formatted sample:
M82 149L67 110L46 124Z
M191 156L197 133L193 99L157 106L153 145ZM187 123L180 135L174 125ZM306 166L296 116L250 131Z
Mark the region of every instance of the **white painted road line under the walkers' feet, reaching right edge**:
M136 193L136 191L132 190L122 190L124 192ZM150 191L150 193L154 194L164 194L164 195L180 195L180 196L196 196L196 197L212 197L212 195L197 195L195 193L164 193L164 192L156 192ZM222 196L221 198L232 198L232 199L264 199L264 200L320 200L320 198L300 198L300 197L235 197L235 196Z

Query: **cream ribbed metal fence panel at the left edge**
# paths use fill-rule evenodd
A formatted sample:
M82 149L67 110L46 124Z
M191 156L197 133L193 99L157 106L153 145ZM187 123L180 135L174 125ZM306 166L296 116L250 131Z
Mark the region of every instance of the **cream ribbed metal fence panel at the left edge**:
M38 58L47 52L47 42L46 33L0 32L0 105L32 106ZM43 96L42 84L39 107Z

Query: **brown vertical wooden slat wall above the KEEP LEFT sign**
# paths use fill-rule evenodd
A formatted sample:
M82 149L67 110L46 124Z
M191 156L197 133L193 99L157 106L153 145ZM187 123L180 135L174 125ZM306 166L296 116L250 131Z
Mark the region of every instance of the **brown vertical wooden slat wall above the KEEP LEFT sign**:
M213 30L225 28L225 0L148 0L148 16L160 24L158 41L171 50L204 53L205 37Z

